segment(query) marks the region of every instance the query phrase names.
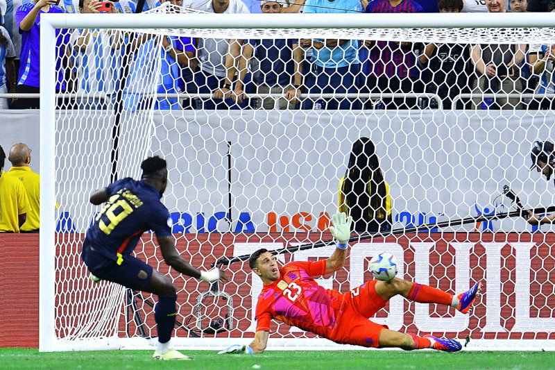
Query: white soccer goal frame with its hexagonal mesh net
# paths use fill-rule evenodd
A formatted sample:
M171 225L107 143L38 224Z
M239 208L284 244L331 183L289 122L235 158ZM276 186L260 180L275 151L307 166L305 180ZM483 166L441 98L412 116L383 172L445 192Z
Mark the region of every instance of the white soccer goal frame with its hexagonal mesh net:
M241 256L298 246L278 260L330 256L330 215L363 138L391 202L382 194L379 209L359 212L368 224L357 223L345 267L318 283L355 289L387 251L401 278L452 294L481 280L484 295L471 314L395 297L373 321L467 349L554 349L555 234L527 224L503 194L507 185L524 208L552 205L552 183L528 169L533 142L555 140L553 62L526 71L532 53L541 59L555 44L554 26L526 14L214 15L168 4L142 15L43 15L40 350L155 344L157 297L94 285L80 259L101 211L89 194L138 178L149 155L168 162L162 201L179 253L230 276L212 286L181 276L142 236L137 257L178 289L173 343L250 342L262 281ZM300 103L285 101L296 85ZM355 347L273 321L274 348Z

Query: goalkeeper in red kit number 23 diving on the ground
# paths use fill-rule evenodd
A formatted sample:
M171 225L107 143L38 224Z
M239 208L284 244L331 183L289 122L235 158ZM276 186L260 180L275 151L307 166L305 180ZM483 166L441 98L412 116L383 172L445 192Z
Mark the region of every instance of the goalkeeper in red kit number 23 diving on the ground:
M400 278L393 278L388 282L370 280L345 294L324 289L312 277L330 274L343 267L352 219L347 218L345 213L338 213L332 217L332 221L334 227L330 227L330 232L338 240L338 244L332 256L326 260L290 262L279 267L275 257L266 249L259 249L250 255L249 266L264 283L256 307L255 339L248 345L236 344L219 353L263 352L268 342L271 319L297 326L340 344L399 347L404 350L435 348L447 352L460 351L461 344L453 339L399 333L373 323L368 318L384 308L387 301L398 294L420 303L450 305L466 313L479 293L480 283L458 296Z

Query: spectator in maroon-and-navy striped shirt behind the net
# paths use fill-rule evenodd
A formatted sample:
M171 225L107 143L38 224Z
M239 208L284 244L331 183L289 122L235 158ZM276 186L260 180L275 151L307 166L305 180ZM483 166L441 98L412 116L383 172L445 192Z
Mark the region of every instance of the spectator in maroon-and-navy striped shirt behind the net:
M366 1L366 0L363 0ZM366 6L367 13L423 12L414 0L375 0ZM366 41L369 60L364 64L367 76L366 89L370 93L422 92L422 83L416 68L416 45L412 42ZM391 99L382 99L386 105ZM398 109L416 106L416 98L395 98L393 105ZM370 108L368 106L367 108ZM381 108L381 107L379 107Z

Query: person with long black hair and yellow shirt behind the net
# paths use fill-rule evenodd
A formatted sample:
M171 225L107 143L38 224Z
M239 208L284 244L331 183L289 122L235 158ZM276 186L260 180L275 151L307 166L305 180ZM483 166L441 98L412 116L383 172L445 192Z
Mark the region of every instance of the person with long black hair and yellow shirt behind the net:
M352 217L356 233L391 230L389 186L368 137L352 144L347 171L339 180L339 212Z

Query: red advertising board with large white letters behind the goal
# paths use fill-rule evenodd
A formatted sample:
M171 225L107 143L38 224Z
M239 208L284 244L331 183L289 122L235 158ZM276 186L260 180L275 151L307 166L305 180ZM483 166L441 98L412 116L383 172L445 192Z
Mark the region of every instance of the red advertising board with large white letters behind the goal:
M79 325L71 319L76 304L82 304L80 291L89 289L87 271L79 258L82 235L58 235L57 314L58 335L64 337ZM329 234L271 233L271 234L178 234L177 249L194 266L209 269L223 256L246 255L259 248L280 249L320 240ZM208 295L198 301L200 294L210 290L207 283L181 277L164 264L155 249L151 235L143 237L144 248L137 256L155 269L168 274L178 288L178 321L191 330L176 330L180 337L197 335L200 328L222 319L230 323L230 330L216 333L216 337L253 337L253 305L256 301L259 278L253 276L248 262L230 264L226 273L230 282L220 285L224 295ZM412 333L434 333L470 337L470 339L555 339L555 233L420 233L392 236L352 243L344 269L320 280L326 287L348 292L371 278L368 261L378 251L393 251L402 264L398 277L438 287L452 294L468 289L471 283L482 280L483 294L470 315L456 313L445 306L413 303L404 298L388 303L376 321L386 323L393 330ZM0 269L4 299L0 330L1 346L37 346L38 343L38 236L3 235ZM330 255L333 246L311 251L284 253L282 262L318 260ZM362 262L362 263L361 263ZM7 274L6 274L7 273ZM80 298L81 297L81 298ZM231 298L229 300L229 298ZM86 301L86 297L85 297ZM155 297L136 298L139 314L148 335L155 335L153 303ZM79 303L81 302L81 303ZM232 319L230 318L232 302ZM25 317L17 312L26 308ZM226 314L228 315L226 317ZM26 321L24 323L20 321ZM227 320L227 321L226 321ZM22 330L13 330L17 323ZM272 337L311 337L273 323ZM134 323L123 321L120 335L138 333ZM206 335L206 334L205 334ZM209 336L214 337L214 334Z

